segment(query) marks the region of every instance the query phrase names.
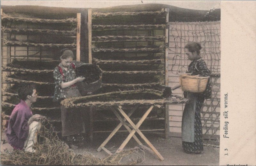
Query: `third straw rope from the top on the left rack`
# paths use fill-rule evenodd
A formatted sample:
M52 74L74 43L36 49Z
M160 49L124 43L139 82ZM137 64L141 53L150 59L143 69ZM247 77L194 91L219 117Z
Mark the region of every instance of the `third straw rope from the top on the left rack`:
M13 45L13 46L42 46L42 47L69 47L69 48L74 48L76 47L76 43L72 44L54 44L54 43L31 43L27 41L10 41L10 40L4 40L3 41L4 45Z

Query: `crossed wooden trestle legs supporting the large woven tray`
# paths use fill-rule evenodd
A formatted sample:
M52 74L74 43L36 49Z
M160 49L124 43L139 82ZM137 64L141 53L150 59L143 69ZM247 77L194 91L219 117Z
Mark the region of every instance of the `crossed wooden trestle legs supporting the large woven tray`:
M113 130L113 132L111 132L111 134L108 136L108 138L100 145L100 147L97 149L98 152L100 152L101 149L103 149L104 151L106 151L109 155L112 155L112 153L106 149L104 146L108 143L108 141L114 136L114 134L121 128L122 125L124 125L124 127L130 132L130 134L127 136L127 138L124 140L124 142L121 144L121 146L117 149L116 153L121 152L125 145L129 142L129 140L133 137L136 142L143 148L149 150L151 153L155 153L160 160L164 160L163 156L156 150L156 148L149 142L149 140L144 136L144 134L140 131L139 127L140 125L143 123L143 121L146 119L146 117L148 116L148 114L151 112L151 110L154 108L154 105L152 105L145 113L144 115L140 118L139 122L135 125L132 120L130 119L130 116L132 115L132 113L138 108L134 107L129 113L128 115L126 115L126 113L123 111L122 107L119 106L117 108L117 110L123 115L124 119L122 119L122 117L116 112L115 109L112 109L112 111L114 112L114 114L116 115L116 117L120 120L120 123L116 126L116 128ZM129 124L127 124L125 121L128 121ZM130 129L130 127L132 128L132 130ZM140 140L136 137L135 132L137 132L140 137L148 144L148 147L144 146Z

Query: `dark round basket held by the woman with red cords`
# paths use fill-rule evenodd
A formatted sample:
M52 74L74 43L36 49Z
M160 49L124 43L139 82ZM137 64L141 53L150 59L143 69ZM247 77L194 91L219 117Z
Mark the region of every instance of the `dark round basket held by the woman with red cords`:
M96 90L98 90L101 87L101 84L102 84L102 70L96 64L83 64L80 67L83 67L84 69L87 69L89 71L90 71L90 69L92 69L90 71L91 74L94 74L98 77L98 80L93 81L93 82L84 82L83 81L83 82L77 83L77 87L79 89L80 94L82 96L86 96L88 94L91 94L91 93L95 92ZM77 70L76 70L76 76L79 77L79 76L82 76L82 75L81 75L81 73L78 74ZM85 78L85 79L87 79L87 78Z

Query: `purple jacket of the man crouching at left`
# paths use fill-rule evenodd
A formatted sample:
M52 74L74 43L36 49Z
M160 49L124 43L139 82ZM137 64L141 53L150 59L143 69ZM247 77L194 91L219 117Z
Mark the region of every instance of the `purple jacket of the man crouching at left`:
M9 144L14 149L23 149L24 143L28 138L28 119L32 115L31 109L23 100L20 100L20 103L12 110L6 136Z

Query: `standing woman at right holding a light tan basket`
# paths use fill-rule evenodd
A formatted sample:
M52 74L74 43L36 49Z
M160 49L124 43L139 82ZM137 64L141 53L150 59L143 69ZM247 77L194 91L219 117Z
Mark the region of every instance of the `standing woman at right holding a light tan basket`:
M197 42L189 42L185 46L185 54L192 61L188 66L187 73L203 77L210 76L210 70L200 57L201 48L200 43ZM176 88L173 87L172 89ZM186 153L201 154L204 151L200 110L204 104L204 99L210 98L211 94L209 80L205 91L202 93L184 92L184 97L189 100L182 115L182 147Z

